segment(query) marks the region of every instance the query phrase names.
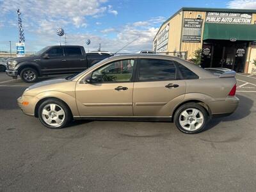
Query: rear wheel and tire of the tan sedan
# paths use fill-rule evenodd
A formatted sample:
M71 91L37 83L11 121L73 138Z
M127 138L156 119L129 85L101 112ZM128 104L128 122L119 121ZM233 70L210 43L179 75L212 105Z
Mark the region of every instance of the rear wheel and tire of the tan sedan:
M177 109L173 120L181 132L195 134L205 129L209 122L209 115L200 104L189 102Z

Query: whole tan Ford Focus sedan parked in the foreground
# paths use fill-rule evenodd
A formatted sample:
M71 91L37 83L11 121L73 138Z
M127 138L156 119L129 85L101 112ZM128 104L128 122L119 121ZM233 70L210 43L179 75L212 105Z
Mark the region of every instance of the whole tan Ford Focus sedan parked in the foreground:
M172 56L129 54L73 77L34 84L17 101L49 128L76 119L166 121L191 134L203 131L212 117L236 110L235 75L214 75Z

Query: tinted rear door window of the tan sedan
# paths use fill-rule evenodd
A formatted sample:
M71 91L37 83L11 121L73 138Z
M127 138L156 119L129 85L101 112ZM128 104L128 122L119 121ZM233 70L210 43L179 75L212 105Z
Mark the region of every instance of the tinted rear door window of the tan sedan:
M167 81L176 79L173 61L141 59L138 68L139 81Z

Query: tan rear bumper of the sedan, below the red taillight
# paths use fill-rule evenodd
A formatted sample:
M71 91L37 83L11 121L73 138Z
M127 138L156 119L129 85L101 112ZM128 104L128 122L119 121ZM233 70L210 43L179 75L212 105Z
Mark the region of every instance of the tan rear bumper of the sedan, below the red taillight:
M228 116L236 111L239 104L237 97L227 97L225 100L216 100L209 103L212 117Z

